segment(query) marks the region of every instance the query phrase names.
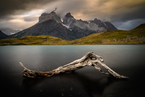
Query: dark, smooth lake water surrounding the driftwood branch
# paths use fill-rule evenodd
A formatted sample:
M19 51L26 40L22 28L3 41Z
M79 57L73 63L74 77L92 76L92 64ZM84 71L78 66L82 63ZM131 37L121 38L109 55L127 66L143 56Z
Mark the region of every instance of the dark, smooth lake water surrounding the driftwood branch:
M22 77L27 68L49 71L87 52L129 79L101 74L93 67L50 78ZM0 46L1 95L15 97L145 97L145 45Z

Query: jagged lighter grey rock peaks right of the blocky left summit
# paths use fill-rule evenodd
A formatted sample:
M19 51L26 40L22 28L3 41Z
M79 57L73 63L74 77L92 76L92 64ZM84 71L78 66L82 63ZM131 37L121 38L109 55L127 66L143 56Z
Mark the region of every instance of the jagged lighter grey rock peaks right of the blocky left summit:
M71 13L67 13L63 18L63 24L65 24L69 29L83 29L95 32L103 32L106 30L116 30L116 28L110 22L102 22L101 20L95 18L90 21L76 20Z

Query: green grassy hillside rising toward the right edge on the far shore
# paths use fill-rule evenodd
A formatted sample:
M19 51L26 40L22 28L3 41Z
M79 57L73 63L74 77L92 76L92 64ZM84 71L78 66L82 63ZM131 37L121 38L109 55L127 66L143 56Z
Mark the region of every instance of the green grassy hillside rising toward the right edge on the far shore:
M115 30L91 34L70 44L145 44L145 24L130 31Z

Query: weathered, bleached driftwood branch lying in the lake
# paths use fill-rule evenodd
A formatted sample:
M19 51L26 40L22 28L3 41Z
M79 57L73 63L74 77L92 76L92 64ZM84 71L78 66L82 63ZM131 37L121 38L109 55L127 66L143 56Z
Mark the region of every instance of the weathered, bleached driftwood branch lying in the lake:
M97 65L99 63L102 65L104 68L108 70L108 72L103 72L102 69ZM113 75L116 78L128 78L126 76L120 75L113 71L111 68L109 68L104 62L101 56L98 56L94 54L93 52L88 52L86 55L84 55L82 58L75 60L69 64L66 64L64 66L60 66L52 71L48 72L41 72L41 71L35 71L35 70L30 70L27 69L21 62L20 65L23 67L23 76L24 77L29 77L29 78L41 78L41 77L51 77L53 75L57 75L63 72L68 72L68 71L75 71L80 68L83 68L85 66L93 66L97 70L99 70L103 74L107 75Z

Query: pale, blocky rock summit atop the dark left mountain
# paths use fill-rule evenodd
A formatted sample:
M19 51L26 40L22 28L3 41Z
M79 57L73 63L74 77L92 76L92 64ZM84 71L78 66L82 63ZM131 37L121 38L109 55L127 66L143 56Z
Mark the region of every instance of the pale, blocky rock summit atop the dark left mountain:
M52 11L51 13L42 13L39 17L38 23L42 23L50 19L54 19L56 22L61 23L61 18L54 11Z

